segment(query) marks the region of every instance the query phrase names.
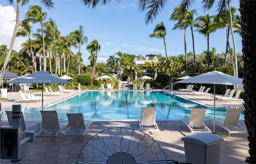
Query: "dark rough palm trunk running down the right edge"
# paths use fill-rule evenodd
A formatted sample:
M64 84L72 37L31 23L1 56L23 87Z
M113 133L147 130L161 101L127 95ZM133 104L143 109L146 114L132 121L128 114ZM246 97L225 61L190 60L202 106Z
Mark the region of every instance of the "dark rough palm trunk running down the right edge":
M240 0L242 52L244 60L244 122L248 131L248 163L256 164L256 1Z

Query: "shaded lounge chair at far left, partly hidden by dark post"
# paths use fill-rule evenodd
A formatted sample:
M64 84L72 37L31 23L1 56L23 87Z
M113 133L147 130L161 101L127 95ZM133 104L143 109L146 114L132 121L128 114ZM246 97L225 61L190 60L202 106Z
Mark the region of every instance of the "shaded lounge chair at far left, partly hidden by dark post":
M8 119L9 126L12 126L12 111L5 111ZM21 113L21 119L20 119L20 136L25 134L30 128L34 125L38 124L38 130L39 130L39 121L24 121L23 114Z

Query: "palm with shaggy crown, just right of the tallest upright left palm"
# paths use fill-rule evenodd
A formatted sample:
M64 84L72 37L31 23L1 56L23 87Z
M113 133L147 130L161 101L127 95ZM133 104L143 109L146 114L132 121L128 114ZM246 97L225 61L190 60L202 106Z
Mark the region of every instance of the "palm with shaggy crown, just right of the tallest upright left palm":
M56 22L52 20L52 18L49 19L49 21L44 23L44 32L46 34L46 37L51 38L52 45L56 42L56 39L60 37L60 31L57 28ZM52 63L51 63L51 53L49 51L49 66L50 66L50 73L52 74Z

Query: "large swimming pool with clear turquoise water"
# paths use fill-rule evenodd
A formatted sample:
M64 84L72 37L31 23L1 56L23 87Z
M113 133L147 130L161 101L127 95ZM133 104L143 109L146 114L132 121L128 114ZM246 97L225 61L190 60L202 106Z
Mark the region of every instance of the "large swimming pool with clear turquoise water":
M56 110L59 120L67 120L66 113L83 113L86 120L135 120L140 117L142 107L156 107L157 120L178 120L190 117L191 108L207 108L163 91L88 91L44 110ZM24 119L41 120L40 110L22 107ZM213 113L213 107L208 107L205 118L213 118ZM216 118L224 118L225 114L226 107L216 107ZM242 113L240 118L243 117ZM5 113L1 119L7 120Z

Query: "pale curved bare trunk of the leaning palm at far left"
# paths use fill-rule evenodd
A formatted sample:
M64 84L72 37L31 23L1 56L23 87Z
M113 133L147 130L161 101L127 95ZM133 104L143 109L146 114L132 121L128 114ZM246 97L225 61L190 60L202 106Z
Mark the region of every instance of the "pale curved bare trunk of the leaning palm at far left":
M8 64L8 61L9 61L11 53L12 53L12 48L13 48L13 45L14 45L14 41L15 41L15 38L16 38L16 33L17 33L17 30L18 30L18 25L19 25L19 16L20 16L20 0L17 0L16 23L15 23L14 31L13 31L13 34L12 34L12 41L10 43L10 47L8 49L8 53L6 55L6 58L4 60L4 65L2 67L2 71L0 73L0 81L2 81L2 79L4 77L4 72L5 72L6 66Z

